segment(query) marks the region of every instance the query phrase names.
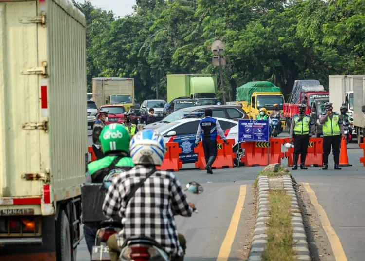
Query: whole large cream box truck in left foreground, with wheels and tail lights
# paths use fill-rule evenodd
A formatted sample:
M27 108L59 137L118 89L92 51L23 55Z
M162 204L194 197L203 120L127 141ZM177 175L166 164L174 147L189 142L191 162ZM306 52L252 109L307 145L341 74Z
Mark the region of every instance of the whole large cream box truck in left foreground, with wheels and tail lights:
M85 17L0 2L0 260L74 261L87 149Z

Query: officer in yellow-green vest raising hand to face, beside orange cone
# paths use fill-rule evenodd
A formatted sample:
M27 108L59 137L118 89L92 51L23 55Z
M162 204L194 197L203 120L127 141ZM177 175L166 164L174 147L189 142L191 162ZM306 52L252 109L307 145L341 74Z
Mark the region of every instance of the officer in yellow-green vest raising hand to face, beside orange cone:
M346 139L344 134L344 126L342 124L342 119L338 113L333 112L332 103L325 103L326 112L322 113L319 118L319 123L323 125L323 168L328 168L328 158L331 153L335 163L334 169L340 170L341 167L338 166L340 162L340 142L341 136ZM342 135L341 135L342 134Z

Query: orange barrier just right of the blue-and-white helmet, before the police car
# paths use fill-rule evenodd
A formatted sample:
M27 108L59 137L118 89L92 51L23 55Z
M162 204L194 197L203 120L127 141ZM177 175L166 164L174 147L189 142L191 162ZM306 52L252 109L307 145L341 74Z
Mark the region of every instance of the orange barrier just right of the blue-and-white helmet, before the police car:
M156 167L159 170L165 171L179 171L183 168L183 162L179 159L179 154L183 152L183 149L179 148L178 142L166 143L166 153L164 161L161 166Z

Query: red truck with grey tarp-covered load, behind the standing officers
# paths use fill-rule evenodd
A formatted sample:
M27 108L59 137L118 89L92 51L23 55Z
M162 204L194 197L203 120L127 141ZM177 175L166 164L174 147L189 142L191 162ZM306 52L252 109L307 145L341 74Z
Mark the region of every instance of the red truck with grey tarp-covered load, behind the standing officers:
M292 117L299 113L298 104L307 105L306 114L311 115L311 106L315 99L328 99L329 92L325 91L318 80L296 80L288 103L283 104L283 114L286 118L286 126L290 128Z

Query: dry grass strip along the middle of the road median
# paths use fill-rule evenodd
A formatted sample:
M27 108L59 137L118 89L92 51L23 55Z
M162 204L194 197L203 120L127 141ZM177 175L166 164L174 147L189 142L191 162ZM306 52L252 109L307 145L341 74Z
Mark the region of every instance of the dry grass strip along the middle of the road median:
M266 230L268 243L262 258L264 261L293 261L291 197L285 190L270 190L267 198L271 208Z

